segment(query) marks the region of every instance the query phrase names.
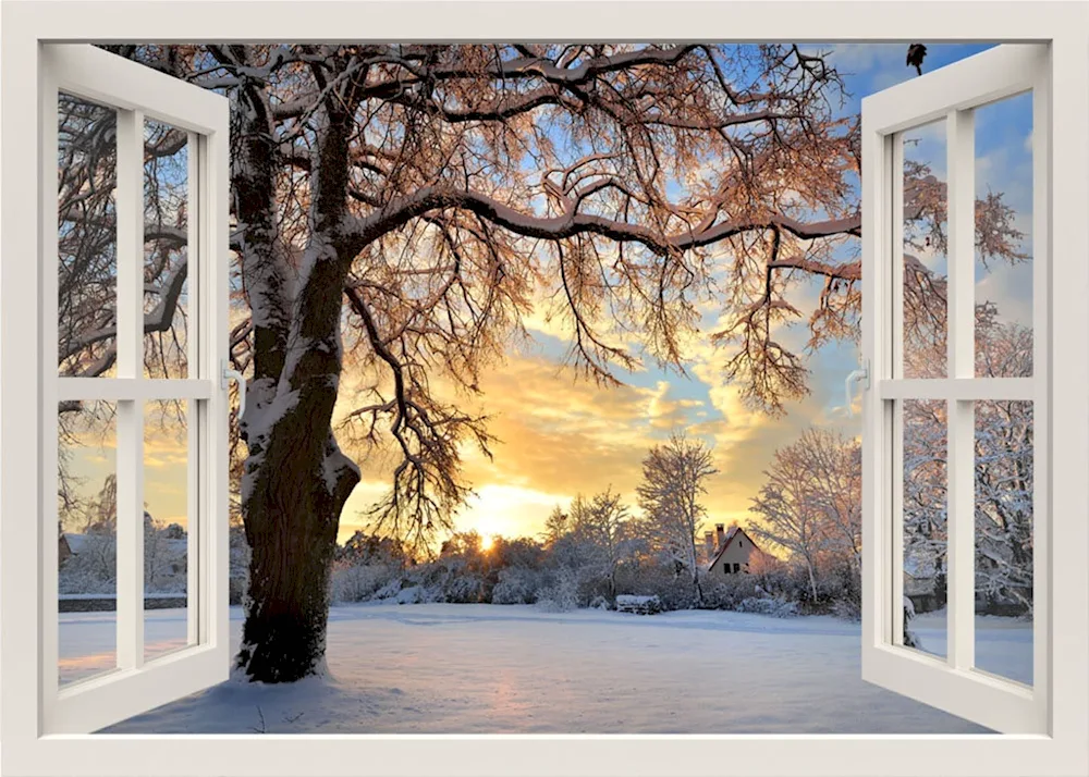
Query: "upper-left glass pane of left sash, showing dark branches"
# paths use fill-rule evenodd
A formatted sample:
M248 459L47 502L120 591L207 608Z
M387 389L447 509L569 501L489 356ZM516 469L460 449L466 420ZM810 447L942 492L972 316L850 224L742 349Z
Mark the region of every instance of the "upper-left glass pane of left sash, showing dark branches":
M115 374L117 113L57 101L59 374Z

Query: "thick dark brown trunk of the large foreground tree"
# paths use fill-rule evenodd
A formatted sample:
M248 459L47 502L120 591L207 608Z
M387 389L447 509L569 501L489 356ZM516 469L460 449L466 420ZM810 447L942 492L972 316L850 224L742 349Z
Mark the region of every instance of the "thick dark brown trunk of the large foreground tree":
M321 669L329 574L340 514L359 469L337 445L341 262L320 240L289 338L284 375L245 420L249 458L242 504L249 597L238 667L253 680L291 682ZM271 394L271 398L268 398Z

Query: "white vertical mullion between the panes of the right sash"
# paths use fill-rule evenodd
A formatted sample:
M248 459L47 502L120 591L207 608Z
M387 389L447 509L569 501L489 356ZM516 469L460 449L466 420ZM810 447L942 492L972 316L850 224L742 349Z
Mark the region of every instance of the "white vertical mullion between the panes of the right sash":
M949 375L971 379L976 374L974 112L951 112L946 127ZM975 664L976 645L975 406L970 400L956 399L949 403L947 411L947 659L951 666L967 669Z

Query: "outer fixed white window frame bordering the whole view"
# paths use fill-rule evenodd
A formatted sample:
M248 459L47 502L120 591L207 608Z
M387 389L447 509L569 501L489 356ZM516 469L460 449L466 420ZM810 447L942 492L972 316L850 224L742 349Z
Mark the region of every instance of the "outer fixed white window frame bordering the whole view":
M0 770L5 775L717 775L723 740L744 775L1089 774L1089 12L1085 2L329 2L132 0L118 4L5 2L0 263ZM577 11L576 11L577 9ZM37 321L40 250L32 229L39 41L267 40L1043 41L1052 53L1051 568L1047 733L1017 736L41 736L38 579L42 410ZM864 213L864 231L874 229ZM864 298L874 280L864 280ZM1061 319L1059 312L1061 311ZM1061 324L1061 325L1059 325ZM25 330L24 330L25 331ZM1062 358L1054 358L1061 355ZM28 366L35 366L32 369ZM873 394L874 392L871 392ZM37 408L37 412L27 412ZM865 465L864 472L873 472ZM1039 488L1039 486L1038 486ZM871 571L876 564L867 555ZM869 574L869 572L867 572ZM871 628L872 625L869 625ZM864 637L869 639L869 637Z

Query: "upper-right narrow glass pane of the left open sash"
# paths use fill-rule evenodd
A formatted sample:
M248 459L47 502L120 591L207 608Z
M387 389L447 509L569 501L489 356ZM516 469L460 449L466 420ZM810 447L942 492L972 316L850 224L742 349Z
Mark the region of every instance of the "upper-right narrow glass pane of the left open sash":
M188 135L144 123L144 374L185 378L188 345Z

